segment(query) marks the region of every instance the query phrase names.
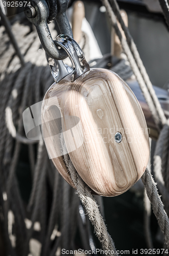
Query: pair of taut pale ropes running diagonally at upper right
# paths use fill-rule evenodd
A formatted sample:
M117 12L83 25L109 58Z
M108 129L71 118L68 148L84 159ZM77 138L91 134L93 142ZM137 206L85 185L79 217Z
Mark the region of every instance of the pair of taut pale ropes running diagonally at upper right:
M128 60L130 62L131 68L133 70L134 75L136 76L136 79L139 83L140 89L144 95L144 98L146 99L149 109L152 112L154 121L157 125L158 130L160 131L161 126L165 124L166 118L164 116L164 112L161 108L161 105L159 103L159 100L154 92L152 83L147 75L146 69L144 68L142 61L139 57L139 53L136 49L136 46L134 44L134 41L129 34L128 28L125 26L123 18L120 14L118 5L115 0L111 0L111 5L108 0L102 0L103 5L106 7L107 14L110 19L110 23L112 27L114 27L115 33L117 34L122 47L128 57ZM114 13L115 12L115 13ZM117 20L115 17L115 14L117 15L118 21L120 25L122 26L122 29L125 32L127 40L122 36L122 33L120 32Z

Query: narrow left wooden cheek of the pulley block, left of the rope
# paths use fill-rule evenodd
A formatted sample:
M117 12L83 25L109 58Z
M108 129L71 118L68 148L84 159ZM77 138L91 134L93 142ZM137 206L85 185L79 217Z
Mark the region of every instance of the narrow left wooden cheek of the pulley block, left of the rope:
M67 77L68 81L70 76ZM62 80L63 83L67 82L67 79ZM72 186L74 186L73 181L71 181L70 175L67 171L66 164L61 152L61 142L60 138L56 135L60 133L60 118L61 112L58 111L61 102L62 91L64 91L63 84L54 83L50 89L46 92L42 103L42 131L45 145L49 157L52 159L54 165L58 169L61 176ZM56 100L57 96L57 100ZM55 121L57 119L57 121ZM57 157L55 157L57 156Z

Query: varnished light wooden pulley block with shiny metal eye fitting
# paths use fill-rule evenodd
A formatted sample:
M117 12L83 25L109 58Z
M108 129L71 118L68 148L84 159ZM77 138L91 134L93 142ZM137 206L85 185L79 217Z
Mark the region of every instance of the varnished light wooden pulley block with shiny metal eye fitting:
M96 194L120 195L143 175L149 160L149 134L141 107L117 74L89 69L73 39L62 35L56 40L67 52L73 69L48 57L57 82L42 103L47 152L71 186L63 147Z

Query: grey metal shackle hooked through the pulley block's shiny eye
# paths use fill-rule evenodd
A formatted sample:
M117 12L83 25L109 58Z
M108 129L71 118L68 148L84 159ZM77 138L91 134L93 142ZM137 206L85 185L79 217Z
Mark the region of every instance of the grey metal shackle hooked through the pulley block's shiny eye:
M35 25L45 52L53 59L65 59L67 57L66 52L63 49L58 49L57 43L55 44L54 40L52 39L51 32L47 25L49 7L46 1L31 0L30 3L31 5L25 7L25 15L27 16L28 20ZM59 8L58 17L56 17L59 29L61 33L73 37L73 33L65 13L67 9L67 0L64 0L63 6L59 6Z

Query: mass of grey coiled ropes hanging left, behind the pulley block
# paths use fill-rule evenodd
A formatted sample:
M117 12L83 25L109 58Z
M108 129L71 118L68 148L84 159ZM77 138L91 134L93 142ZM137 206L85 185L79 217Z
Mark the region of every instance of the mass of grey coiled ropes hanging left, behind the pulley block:
M50 24L50 26L53 36L56 37L54 24ZM66 248L75 249L76 230L80 229L80 232L84 234L86 226L81 225L80 202L75 190L56 172L53 163L48 158L43 141L39 141L36 146L37 141L25 137L22 112L28 106L43 99L46 90L53 83L53 77L47 66L38 35L36 31L30 30L30 25L24 15L20 14L19 20L15 20L12 31L19 38L18 46L21 54L25 57L25 66L21 67L20 60L9 43L6 30L3 26L0 27L0 88L2 96L0 102L0 180L1 196L6 195L1 202L1 214L4 216L4 221L1 218L1 222L5 232L8 255L23 256L30 253L34 238L34 224L38 221L41 229L38 240L42 245L39 254L53 256L60 246L65 245L65 234L68 236ZM20 197L15 173L21 161L19 158L24 148L23 144L28 145L28 160L33 180L28 210ZM24 167L23 172L25 172ZM50 189L47 187L48 183ZM47 202L49 193L53 197L51 205ZM67 201L71 204L67 204ZM8 232L10 210L14 215L14 240L11 240L11 234ZM31 222L29 228L26 226L26 219ZM72 230L74 231L72 232ZM90 248L87 234L86 244L83 243L83 240L82 244L84 249Z

